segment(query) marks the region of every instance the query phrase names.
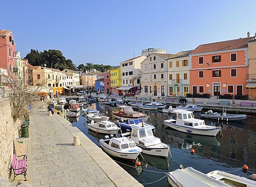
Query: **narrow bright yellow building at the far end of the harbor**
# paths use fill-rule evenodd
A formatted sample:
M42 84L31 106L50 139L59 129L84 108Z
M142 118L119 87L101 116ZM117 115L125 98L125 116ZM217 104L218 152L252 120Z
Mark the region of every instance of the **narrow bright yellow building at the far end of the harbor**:
M117 67L115 69L109 70L110 72L110 92L113 95L118 95L122 90L117 90L117 88L121 87L121 67ZM119 91L119 92L118 92Z

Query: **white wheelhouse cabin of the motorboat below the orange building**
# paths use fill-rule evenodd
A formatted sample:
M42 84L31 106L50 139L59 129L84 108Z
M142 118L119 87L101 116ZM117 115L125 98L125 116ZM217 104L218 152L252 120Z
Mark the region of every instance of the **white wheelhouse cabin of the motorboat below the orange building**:
M193 128L197 128L198 126L205 125L204 120L195 119L193 112L185 111L182 109L178 109L173 111L173 113L177 114L176 124L183 126L191 126Z

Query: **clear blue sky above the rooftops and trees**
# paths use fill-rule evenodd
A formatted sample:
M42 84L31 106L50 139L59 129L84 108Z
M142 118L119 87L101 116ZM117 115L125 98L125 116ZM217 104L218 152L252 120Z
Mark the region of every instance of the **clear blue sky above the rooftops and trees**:
M17 51L61 50L75 65L119 65L146 48L166 53L254 36L256 1L24 0L1 4Z

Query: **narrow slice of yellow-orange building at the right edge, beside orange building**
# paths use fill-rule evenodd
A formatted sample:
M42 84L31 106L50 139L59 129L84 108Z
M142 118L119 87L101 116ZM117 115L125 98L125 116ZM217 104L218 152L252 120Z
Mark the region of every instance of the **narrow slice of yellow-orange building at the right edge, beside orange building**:
M250 35L250 33L249 33ZM256 99L256 37L248 44L248 66L245 88L250 99Z

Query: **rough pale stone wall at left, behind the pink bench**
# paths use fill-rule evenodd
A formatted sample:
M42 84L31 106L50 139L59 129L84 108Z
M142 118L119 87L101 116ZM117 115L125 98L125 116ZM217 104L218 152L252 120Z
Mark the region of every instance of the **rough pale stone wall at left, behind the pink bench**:
M18 126L12 118L12 105L9 98L0 99L0 176L8 177L12 162L14 140L19 137Z

